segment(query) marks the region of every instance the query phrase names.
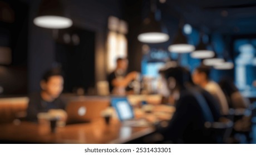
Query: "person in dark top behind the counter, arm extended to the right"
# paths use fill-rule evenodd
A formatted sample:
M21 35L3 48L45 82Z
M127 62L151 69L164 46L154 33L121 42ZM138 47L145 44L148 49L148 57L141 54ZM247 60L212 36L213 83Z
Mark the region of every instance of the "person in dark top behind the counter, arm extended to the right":
M116 59L116 69L107 77L109 81L109 91L112 94L122 94L125 95L125 92L129 90L127 87L132 80L135 80L139 73L132 71L129 74L126 74L128 66L128 60L125 58Z

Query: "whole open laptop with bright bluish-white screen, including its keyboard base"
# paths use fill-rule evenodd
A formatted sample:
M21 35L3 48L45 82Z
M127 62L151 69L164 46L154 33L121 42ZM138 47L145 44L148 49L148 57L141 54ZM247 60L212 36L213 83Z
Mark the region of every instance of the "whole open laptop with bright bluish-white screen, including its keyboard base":
M145 127L150 123L145 119L136 119L134 110L126 97L112 97L111 105L115 108L117 117L123 126Z

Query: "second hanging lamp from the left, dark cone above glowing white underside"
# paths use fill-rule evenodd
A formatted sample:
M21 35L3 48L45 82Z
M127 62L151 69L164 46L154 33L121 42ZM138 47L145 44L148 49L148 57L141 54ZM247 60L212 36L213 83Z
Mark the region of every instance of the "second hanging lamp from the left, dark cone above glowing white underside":
M143 20L137 38L142 43L163 43L169 40L169 35L167 29L156 21L154 12L150 12L149 17Z

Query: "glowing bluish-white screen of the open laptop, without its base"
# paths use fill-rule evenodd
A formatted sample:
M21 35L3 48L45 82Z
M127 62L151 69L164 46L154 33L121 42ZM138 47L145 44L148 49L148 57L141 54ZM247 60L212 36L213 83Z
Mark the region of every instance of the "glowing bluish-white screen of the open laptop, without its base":
M111 105L115 108L120 121L134 118L134 111L126 97L113 97L111 99Z

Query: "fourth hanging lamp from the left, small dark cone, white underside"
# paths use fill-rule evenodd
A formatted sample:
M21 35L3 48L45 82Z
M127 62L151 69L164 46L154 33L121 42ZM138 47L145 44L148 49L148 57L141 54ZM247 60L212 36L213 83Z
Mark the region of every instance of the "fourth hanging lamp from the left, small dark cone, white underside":
M200 38L200 42L198 46L196 46L195 51L193 51L190 56L192 58L196 59L206 59L206 58L213 58L214 57L214 51L207 50L205 44L203 43L203 38Z

